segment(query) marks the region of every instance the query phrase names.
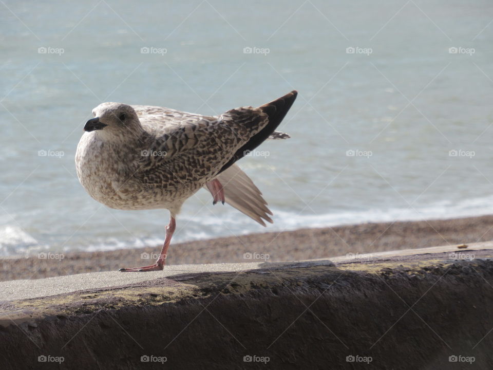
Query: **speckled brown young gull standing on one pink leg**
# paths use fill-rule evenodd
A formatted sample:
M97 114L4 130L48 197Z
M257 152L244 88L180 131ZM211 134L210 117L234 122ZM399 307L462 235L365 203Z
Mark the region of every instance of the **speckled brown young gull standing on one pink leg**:
M201 116L157 106L102 103L84 126L75 167L82 186L105 206L169 210L161 254L154 265L120 271L162 270L183 202L205 187L213 203L226 202L266 226L267 202L235 162L276 132L297 92L258 108Z

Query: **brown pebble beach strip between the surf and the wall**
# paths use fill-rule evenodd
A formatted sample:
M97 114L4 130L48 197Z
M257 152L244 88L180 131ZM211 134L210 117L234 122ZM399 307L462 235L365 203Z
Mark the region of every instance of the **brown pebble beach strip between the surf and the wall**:
M392 223L365 223L227 236L176 243L168 265L313 260L493 239L493 215ZM154 262L161 246L99 252L68 252L62 260L37 256L0 258L0 281L114 271ZM249 253L249 254L248 254ZM251 257L251 258L249 258Z

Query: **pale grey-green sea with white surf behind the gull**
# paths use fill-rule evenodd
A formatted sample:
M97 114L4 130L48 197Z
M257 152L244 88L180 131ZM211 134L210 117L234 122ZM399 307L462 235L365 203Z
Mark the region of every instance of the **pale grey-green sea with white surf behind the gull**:
M0 2L0 255L162 243L166 210L108 209L74 169L101 102L215 115L299 96L239 164L267 229L201 190L174 241L489 214L493 3Z

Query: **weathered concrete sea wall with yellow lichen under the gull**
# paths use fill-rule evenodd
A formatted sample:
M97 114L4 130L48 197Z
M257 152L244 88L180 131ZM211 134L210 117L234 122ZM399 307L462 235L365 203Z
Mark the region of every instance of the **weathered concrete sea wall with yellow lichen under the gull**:
M493 368L492 246L3 282L0 368Z

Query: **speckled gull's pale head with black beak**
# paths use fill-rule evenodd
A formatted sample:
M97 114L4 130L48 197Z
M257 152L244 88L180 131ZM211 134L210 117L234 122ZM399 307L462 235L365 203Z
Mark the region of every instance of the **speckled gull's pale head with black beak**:
M142 126L134 108L122 103L102 103L92 109L94 118L84 125L84 131L104 132L104 136L125 136L129 131L137 133Z

